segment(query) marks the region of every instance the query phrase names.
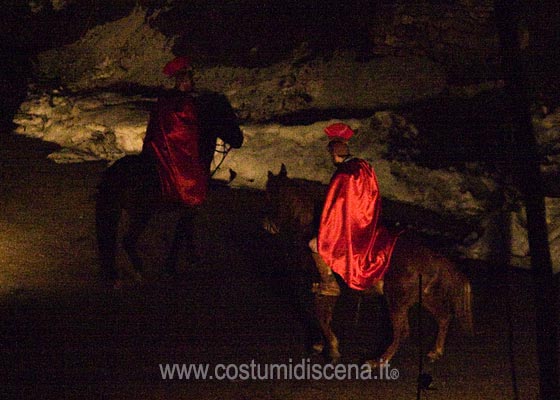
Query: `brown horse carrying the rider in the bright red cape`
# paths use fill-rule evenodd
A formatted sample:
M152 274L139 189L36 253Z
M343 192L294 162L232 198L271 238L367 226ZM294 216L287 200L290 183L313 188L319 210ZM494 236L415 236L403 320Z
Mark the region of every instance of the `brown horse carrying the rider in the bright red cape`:
M272 234L289 232L294 252L302 256L303 270L312 270L307 246L320 217L326 187L318 182L288 178L282 164L278 175L268 172L266 183L265 230ZM315 268L316 269L316 268ZM314 273L314 272L313 272ZM427 354L431 361L443 356L447 331L455 314L464 330L472 334L472 294L467 277L448 258L426 247L412 231L401 234L395 244L390 265L384 277L383 292L393 328L393 339L379 360L367 360L371 366L389 362L399 345L410 333L408 311L418 302L419 278L422 277L422 305L433 315L438 332L433 349ZM312 311L322 340L313 345L330 361L337 362L338 338L331 328L333 310L338 296L315 294Z

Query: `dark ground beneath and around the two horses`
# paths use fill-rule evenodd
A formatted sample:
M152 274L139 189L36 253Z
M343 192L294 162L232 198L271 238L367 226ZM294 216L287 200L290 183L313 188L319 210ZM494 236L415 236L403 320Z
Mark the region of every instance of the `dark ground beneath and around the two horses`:
M304 357L303 325L282 274L273 273L286 254L258 233L261 194L211 193L197 228L205 261L179 282L158 279L158 249L173 219L159 216L142 241L154 266L148 282L114 290L96 278L93 195L104 163L56 165L46 159L49 145L2 133L0 398L416 398L414 335L391 362L396 380L163 380L161 363L295 364ZM422 398L513 399L512 366L519 398L537 398L528 274L504 280L480 263L460 266L473 282L476 335L452 324L443 359L425 365L436 390ZM389 328L380 304L368 300L353 329L353 302L342 302L335 326L343 363L381 351ZM427 350L434 326L423 320Z

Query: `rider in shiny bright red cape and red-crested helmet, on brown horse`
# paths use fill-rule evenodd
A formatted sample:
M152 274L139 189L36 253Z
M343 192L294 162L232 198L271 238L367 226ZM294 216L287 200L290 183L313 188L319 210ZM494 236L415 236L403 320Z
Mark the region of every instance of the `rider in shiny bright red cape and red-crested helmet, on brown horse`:
M379 223L381 195L372 166L350 154L354 135L343 123L325 128L327 149L336 172L329 183L317 237L309 247L321 282L317 294L338 296L336 272L356 290L383 293L383 275L389 266L396 236Z

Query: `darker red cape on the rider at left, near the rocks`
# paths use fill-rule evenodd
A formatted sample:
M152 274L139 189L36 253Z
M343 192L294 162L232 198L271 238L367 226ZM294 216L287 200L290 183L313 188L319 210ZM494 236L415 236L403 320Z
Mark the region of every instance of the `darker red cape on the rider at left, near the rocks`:
M208 191L208 171L199 154L200 128L194 100L181 92L162 96L150 116L143 152L158 165L166 200L195 206Z

